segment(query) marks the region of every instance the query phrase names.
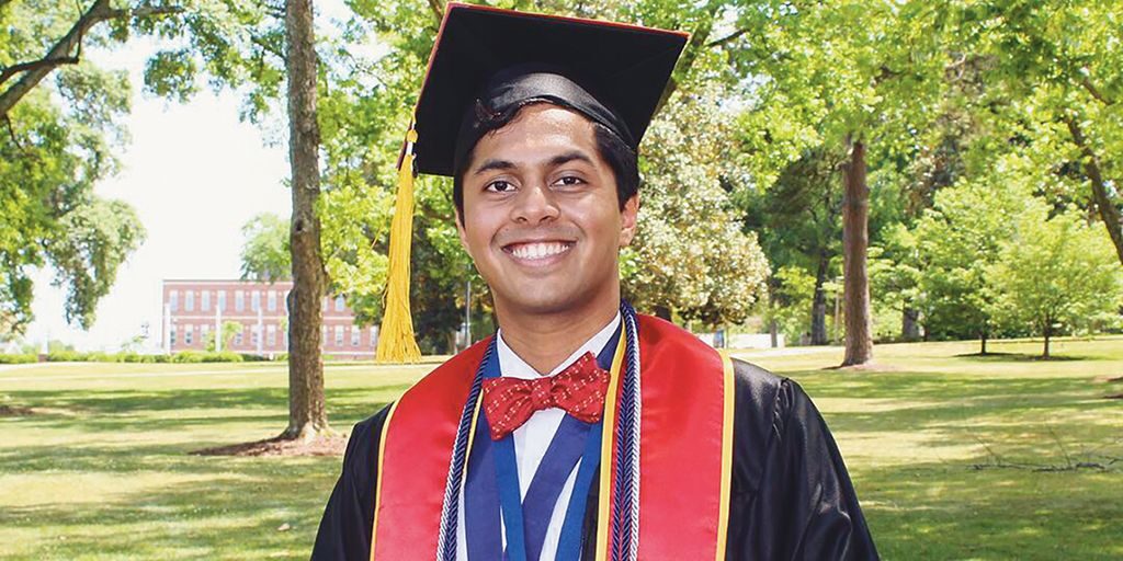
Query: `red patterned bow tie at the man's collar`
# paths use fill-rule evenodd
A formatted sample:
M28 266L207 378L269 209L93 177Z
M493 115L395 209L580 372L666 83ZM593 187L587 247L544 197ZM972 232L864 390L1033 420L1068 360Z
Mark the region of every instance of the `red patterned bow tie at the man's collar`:
M556 376L485 379L484 413L492 440L506 436L536 411L547 407L562 407L578 421L595 423L604 413L608 389L609 373L596 366L592 352L582 355Z

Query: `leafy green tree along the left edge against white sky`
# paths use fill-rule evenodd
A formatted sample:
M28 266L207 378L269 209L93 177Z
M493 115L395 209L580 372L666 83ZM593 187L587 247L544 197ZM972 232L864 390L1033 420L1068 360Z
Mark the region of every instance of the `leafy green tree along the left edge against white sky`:
M79 47L83 38L112 39L95 24L122 29L167 12L95 2L72 25L66 2L0 11L0 332L30 322L30 270L42 266L66 291L67 321L89 328L118 267L144 241L130 206L93 193L117 171L129 84L124 73L82 61ZM52 71L55 80L45 81Z

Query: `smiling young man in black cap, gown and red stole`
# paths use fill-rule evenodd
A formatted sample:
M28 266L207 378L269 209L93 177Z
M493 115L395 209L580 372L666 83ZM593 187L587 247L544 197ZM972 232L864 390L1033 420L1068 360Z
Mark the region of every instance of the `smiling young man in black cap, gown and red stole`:
M500 331L355 426L313 559L876 559L793 381L620 300L681 34L449 4L418 167Z

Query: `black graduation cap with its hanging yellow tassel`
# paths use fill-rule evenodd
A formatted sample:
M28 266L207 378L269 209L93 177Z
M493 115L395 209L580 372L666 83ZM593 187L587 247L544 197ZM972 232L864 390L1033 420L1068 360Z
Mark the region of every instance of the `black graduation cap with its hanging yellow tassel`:
M420 357L409 311L414 171L453 176L484 134L473 119L481 108L502 113L529 101L582 113L638 148L688 37L626 24L447 4L399 159L378 361Z

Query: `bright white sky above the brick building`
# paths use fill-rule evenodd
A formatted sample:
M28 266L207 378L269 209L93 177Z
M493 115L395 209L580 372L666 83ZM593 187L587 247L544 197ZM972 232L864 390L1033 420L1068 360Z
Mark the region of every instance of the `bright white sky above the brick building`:
M331 2L332 4L336 2ZM325 2L321 6L328 4ZM339 6L327 6L337 17ZM322 19L321 19L322 21ZM117 350L148 323L148 348L159 347L161 282L165 278L237 278L241 227L254 215L291 213L287 149L265 146L265 132L238 121L240 98L203 89L189 103L172 103L141 92L144 61L154 45L133 40L92 56L104 68L125 68L133 81L133 112L125 119L131 141L118 150L122 171L97 185L101 196L131 204L147 240L117 273L89 331L70 327L63 289L51 285L49 269L35 275L35 321L24 340L47 338L83 350ZM275 114L275 128L284 128ZM275 131L270 134L276 136Z

